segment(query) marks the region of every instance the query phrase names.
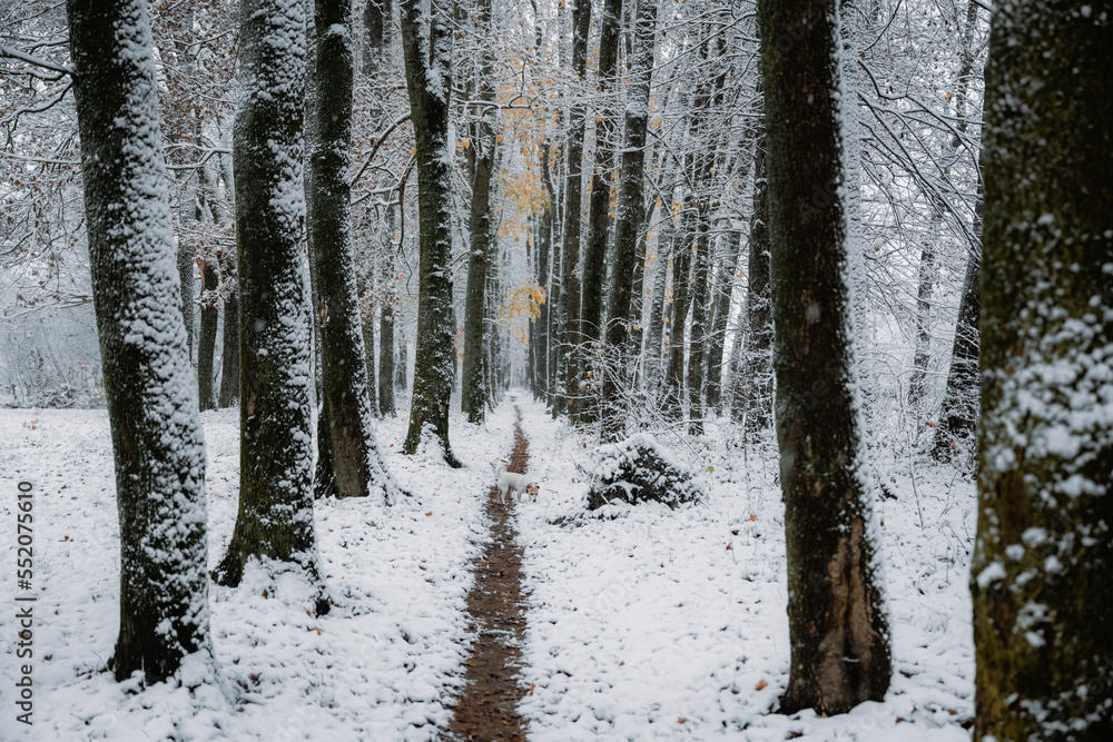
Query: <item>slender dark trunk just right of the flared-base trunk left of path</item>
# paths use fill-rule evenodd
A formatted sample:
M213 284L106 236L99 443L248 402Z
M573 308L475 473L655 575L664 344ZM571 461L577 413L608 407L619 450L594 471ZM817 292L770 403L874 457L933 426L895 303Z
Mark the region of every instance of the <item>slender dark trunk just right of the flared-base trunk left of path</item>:
M476 97L489 103L476 111L479 120L471 125L470 146L466 150L471 176L472 204L469 214L471 253L467 256L467 287L464 298L464 358L461 370L461 412L470 423L482 423L486 414L487 396L483 386L483 338L486 333L486 283L491 250L491 176L494 174L498 147L494 106L495 39L491 27L491 0L475 4L475 32L484 40L477 65Z

